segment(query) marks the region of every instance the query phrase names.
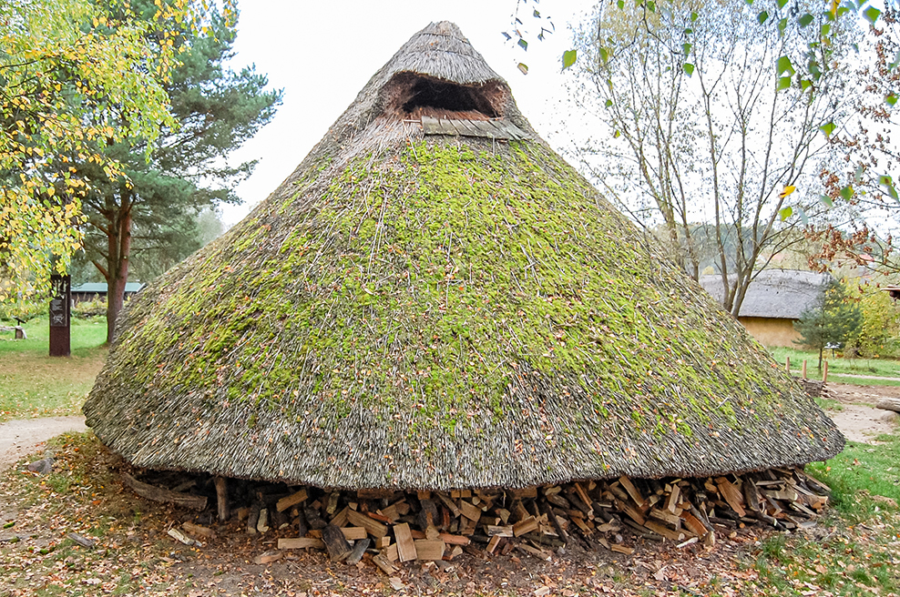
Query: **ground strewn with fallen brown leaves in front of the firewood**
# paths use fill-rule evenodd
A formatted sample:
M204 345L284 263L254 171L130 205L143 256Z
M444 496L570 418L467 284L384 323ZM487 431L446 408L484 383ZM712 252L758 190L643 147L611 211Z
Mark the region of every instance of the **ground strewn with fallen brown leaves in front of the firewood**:
M0 475L0 595L885 597L898 584L892 549L900 551L900 522L888 510L864 524L835 519L803 534L749 527L712 550L626 537L636 548L631 556L599 544L570 546L550 562L524 554L464 554L443 571L410 562L392 577L368 555L348 566L333 564L324 552L288 551L276 562L255 564L275 547L275 532L251 537L242 524L219 523L210 512L139 498L119 481L128 465L93 435L64 436L54 457L54 472L46 476L22 464ZM168 531L185 521L209 526L218 537L199 547L175 541ZM83 547L69 533L95 547Z

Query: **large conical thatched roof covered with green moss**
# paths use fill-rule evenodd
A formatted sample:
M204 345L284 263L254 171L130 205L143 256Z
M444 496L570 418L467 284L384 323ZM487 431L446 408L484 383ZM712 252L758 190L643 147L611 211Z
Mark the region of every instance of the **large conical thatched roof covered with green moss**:
M449 23L131 301L85 412L140 466L351 489L746 471L844 445Z

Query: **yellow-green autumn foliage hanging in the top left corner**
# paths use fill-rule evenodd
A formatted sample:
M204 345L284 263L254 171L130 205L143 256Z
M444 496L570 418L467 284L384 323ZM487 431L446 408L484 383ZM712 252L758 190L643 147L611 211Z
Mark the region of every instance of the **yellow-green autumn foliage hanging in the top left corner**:
M205 29L208 8L157 0L138 18L128 0L0 0L0 300L46 288L80 245L95 180L67 166L73 156L117 179L121 164L98 147L174 126L164 84L177 32Z

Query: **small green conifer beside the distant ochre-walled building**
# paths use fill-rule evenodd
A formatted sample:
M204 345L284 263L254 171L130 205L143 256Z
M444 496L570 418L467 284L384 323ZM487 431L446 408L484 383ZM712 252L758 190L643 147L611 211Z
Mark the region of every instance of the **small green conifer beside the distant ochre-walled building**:
M803 311L793 329L800 333L794 340L809 349L819 351L819 369L822 369L822 355L828 344L844 344L863 324L863 314L851 298L847 296L844 284L837 280L825 288L816 303Z

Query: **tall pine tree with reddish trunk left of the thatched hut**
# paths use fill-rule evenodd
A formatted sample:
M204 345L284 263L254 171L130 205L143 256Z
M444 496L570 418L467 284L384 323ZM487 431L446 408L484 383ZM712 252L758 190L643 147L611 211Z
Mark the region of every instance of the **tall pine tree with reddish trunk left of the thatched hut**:
M123 306L134 258L169 263L199 248L196 218L204 207L238 202L232 190L250 176L255 162L226 163L230 152L274 116L281 90L266 90L266 76L253 66L233 72L236 31L213 18L210 35L191 35L167 84L176 127L164 127L147 157L146 141L129 137L104 148L126 165L128 180L97 181L84 201L86 257L107 280L107 341ZM88 174L92 164L77 167Z

